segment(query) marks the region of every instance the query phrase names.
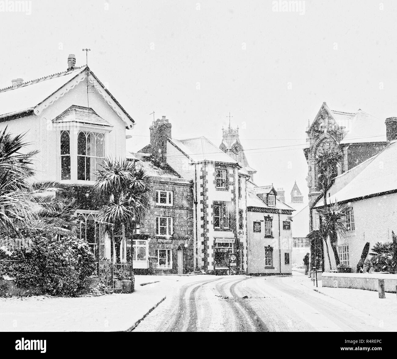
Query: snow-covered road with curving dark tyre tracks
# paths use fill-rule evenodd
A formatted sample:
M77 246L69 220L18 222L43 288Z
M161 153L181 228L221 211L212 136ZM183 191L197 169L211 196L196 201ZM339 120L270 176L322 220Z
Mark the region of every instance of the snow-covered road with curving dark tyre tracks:
M395 320L385 325L385 314L376 308L374 313L364 313L357 306L315 292L306 276L294 274L251 278L203 276L168 295L134 332L396 330ZM360 292L377 296L376 292ZM378 305L382 306L382 302Z

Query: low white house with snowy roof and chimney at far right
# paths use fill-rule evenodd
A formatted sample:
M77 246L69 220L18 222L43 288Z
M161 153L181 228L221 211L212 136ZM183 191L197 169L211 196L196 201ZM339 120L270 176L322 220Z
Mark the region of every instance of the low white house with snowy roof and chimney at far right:
M365 160L335 178L327 203L346 203L350 208L346 218L347 234L338 238L337 250L341 263L355 272L366 242L370 248L378 241L391 241L391 232L397 233L397 118L386 120L388 145L377 155ZM314 204L324 205L323 199ZM314 213L315 228L318 216ZM330 248L331 265L335 259ZM325 246L324 246L325 248ZM324 249L325 250L325 249ZM324 256L325 270L329 269Z

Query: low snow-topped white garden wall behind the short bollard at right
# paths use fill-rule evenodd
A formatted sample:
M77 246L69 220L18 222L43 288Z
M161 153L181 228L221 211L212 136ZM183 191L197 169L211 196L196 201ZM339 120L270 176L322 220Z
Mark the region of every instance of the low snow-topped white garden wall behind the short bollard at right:
M384 273L322 273L322 286L378 291L378 279L385 280L385 292L395 293L396 274Z

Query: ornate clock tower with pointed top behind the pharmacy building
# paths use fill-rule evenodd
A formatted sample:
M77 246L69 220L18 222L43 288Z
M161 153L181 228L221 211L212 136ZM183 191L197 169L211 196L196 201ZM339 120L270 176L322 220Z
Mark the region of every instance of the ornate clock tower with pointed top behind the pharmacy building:
M239 139L239 126L237 126L236 129L233 129L230 127L229 122L228 128L225 129L222 127L222 132L222 142L219 148L227 153L231 158L239 162L239 165L251 176L251 181L253 181L256 170L249 166L247 157L245 157L244 149Z

